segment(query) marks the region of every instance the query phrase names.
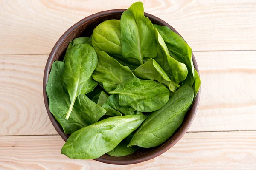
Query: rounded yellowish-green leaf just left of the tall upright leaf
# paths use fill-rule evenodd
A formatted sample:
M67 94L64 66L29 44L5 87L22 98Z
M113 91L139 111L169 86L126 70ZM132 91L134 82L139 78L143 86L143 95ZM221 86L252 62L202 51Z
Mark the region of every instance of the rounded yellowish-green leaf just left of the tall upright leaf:
M120 20L106 20L93 30L92 44L95 51L122 55Z

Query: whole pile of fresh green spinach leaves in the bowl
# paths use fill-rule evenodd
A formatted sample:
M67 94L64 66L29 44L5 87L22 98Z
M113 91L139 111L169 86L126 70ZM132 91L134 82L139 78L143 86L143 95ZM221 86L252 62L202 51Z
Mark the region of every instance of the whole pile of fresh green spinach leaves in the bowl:
M189 45L134 3L52 64L49 109L70 134L61 153L95 159L158 146L181 125L200 84Z

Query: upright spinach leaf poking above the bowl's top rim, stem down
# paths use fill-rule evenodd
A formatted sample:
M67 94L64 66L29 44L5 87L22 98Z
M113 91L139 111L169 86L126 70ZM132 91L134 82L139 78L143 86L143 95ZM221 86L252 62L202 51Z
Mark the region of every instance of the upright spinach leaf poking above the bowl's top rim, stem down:
M121 16L122 56L138 59L143 65L143 58L157 56L154 27L144 16L142 2L133 3Z

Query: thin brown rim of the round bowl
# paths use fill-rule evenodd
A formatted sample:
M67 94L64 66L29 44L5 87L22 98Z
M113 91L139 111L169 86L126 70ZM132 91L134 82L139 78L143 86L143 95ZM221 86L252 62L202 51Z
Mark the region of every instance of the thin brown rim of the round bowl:
M45 69L44 69L44 77L43 77L43 96L44 96L44 104L47 110L47 114L49 116L50 121L52 122L52 125L54 126L55 130L58 132L58 134L61 136L62 139L64 139L64 141L67 141L68 135L64 133L62 127L59 125L59 123L57 122L57 120L55 119L55 117L52 115L52 113L49 110L49 100L47 97L47 93L46 93L46 85L47 85L47 81L49 78L49 72L51 70L51 62L54 59L55 54L57 53L58 49L61 46L61 42L63 42L66 37L71 34L73 31L76 30L77 27L81 26L83 23L86 23L92 19L98 18L98 17L103 17L105 15L109 15L109 14L120 14L123 13L126 9L112 9L112 10L106 10L106 11L101 11L95 14L92 14L88 17L83 18L82 20L80 20L79 22L75 23L73 26L71 26L69 29L67 29L67 31L64 32L64 34L62 34L62 36L58 39L58 41L55 43L54 47L52 48L52 51L49 54L49 57L47 59L47 63L45 65ZM173 28L172 26L170 26L168 23L166 23L165 21L161 20L158 17L155 17L154 15L148 14L144 12L145 17L148 17L150 20L157 20L158 23L160 23L160 25L163 26L168 26L169 28L172 29L172 31L174 31L175 33L179 34L175 28ZM179 34L180 35L180 34ZM182 37L180 35L180 37ZM183 38L183 37L182 37ZM185 40L186 41L186 40ZM199 70L198 70L198 65L197 62L195 60L194 54L192 53L192 61L194 64L194 68L196 69L196 71L198 71L198 75L200 77L199 74ZM108 164L119 164L119 165L127 165L127 164L137 164L143 161L148 161L150 159L153 159L159 155L161 155L162 153L166 152L167 150L169 150L171 147L173 147L183 136L184 134L187 132L187 130L189 129L190 125L192 124L197 109L198 109L198 105L199 105L199 99L200 99L200 93L201 93L201 88L199 88L198 94L195 98L195 101L192 103L192 108L191 108L191 113L189 115L189 119L186 121L186 124L182 123L182 127L180 126L176 131L175 131L175 139L172 141L171 144L169 144L166 147L161 147L160 150L158 150L157 152L154 152L152 154L140 157L140 158L134 158L131 160L110 160L110 159L105 159L102 157L96 158L94 160L96 161L100 161L103 163L108 163ZM164 142L165 143L165 142Z

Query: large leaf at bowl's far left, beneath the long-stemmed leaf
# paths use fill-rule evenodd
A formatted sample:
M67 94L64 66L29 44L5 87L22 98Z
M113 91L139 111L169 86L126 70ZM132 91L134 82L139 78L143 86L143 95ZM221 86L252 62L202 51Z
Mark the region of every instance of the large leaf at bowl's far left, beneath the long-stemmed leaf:
M106 111L99 105L92 104L93 102L84 95L79 95L75 101L70 118L68 120L65 119L70 106L70 97L67 92L67 85L61 79L64 65L65 63L61 61L53 62L46 91L51 113L63 128L64 133L71 134L82 127L97 122ZM85 106L85 108L81 108L79 105L82 103L91 105L92 107L87 108Z

